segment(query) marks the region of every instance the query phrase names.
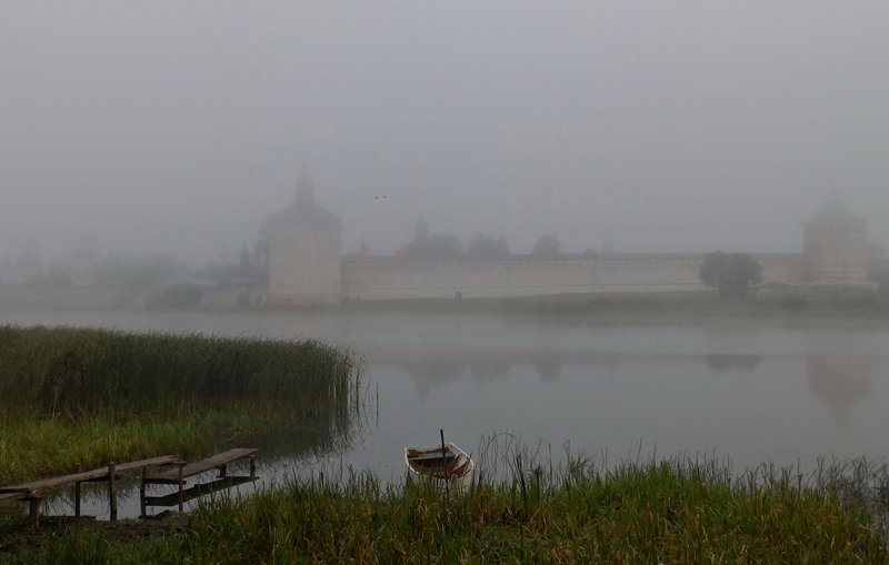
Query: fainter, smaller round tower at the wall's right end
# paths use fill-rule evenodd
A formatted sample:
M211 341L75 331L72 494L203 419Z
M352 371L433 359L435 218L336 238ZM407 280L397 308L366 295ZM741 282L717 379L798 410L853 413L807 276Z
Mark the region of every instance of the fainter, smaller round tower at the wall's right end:
M867 281L867 222L831 196L803 229L806 278L830 284Z

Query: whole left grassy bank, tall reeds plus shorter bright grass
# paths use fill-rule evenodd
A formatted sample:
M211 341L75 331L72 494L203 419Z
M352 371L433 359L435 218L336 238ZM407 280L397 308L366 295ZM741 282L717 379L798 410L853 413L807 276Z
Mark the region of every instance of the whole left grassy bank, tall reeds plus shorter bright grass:
M270 430L336 442L358 371L316 341L0 326L0 484Z

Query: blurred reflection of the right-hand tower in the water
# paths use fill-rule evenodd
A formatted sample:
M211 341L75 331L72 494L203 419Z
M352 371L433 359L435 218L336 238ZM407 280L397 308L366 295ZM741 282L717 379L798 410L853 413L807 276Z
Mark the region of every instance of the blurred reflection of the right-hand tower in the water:
M872 392L871 359L861 355L809 355L809 391L827 401L838 422L848 422L852 404Z

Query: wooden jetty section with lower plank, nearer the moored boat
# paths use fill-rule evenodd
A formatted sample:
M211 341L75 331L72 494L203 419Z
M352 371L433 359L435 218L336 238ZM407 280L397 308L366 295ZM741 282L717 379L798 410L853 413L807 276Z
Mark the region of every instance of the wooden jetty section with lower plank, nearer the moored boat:
M182 512L182 506L186 501L190 501L204 494L230 488L234 485L256 481L257 477L257 453L259 450L251 447L237 447L222 453L217 453L211 457L201 460L194 463L179 463L178 468L172 468L156 475L148 475L147 470L142 471L142 478L139 483L139 502L141 505L141 517L147 517L146 508L148 506L179 506L179 512ZM250 461L250 476L229 476L228 465L236 461L249 460ZM216 481L209 483L198 483L190 488L186 488L186 481L189 477L200 475L208 471L219 471ZM178 490L176 493L166 496L147 496L146 485L176 485Z

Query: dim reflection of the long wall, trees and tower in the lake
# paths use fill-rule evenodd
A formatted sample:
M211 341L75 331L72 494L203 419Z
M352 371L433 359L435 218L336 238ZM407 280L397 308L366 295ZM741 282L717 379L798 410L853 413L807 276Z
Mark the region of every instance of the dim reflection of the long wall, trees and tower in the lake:
M878 363L870 355L778 355L708 353L641 353L622 351L583 351L533 347L485 347L463 345L382 345L370 347L372 364L380 374L400 370L410 375L418 397L427 402L433 389L458 386L467 375L473 386L498 386L525 377L540 386L561 386L566 379L587 375L593 381L602 379L630 379L625 394L639 394L629 391L630 381L636 383L639 375L650 379L669 377L683 374L683 379L697 379L700 383L708 377L735 374L732 386L748 387L749 394L778 394L769 392L773 381L781 383L782 396L788 404L799 406L805 402L803 390L826 401L831 406L833 421L848 422L852 408L861 398L873 393L872 374ZM632 366L632 370L628 367ZM628 374L632 372L632 375ZM805 384L792 380L793 374L802 373ZM750 374L749 379L745 374ZM571 376L566 376L571 375ZM696 376L697 375L697 376ZM643 376L649 377L649 376ZM522 381L525 382L525 381ZM745 384L747 383L747 384ZM787 385L796 384L783 391ZM678 383L677 383L678 385ZM523 386L528 386L525 384ZM702 385L701 385L702 386ZM700 389L703 390L703 389ZM535 394L542 393L537 389ZM697 405L707 406L711 400L700 393ZM641 396L640 396L641 397ZM739 403L745 401L738 400ZM559 406L549 406L558 412ZM758 412L755 404L747 406L750 413ZM789 410L789 408L788 408ZM795 410L799 410L798 407ZM811 410L811 408L809 408Z

